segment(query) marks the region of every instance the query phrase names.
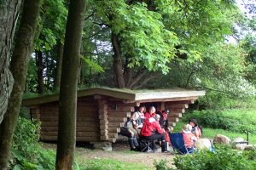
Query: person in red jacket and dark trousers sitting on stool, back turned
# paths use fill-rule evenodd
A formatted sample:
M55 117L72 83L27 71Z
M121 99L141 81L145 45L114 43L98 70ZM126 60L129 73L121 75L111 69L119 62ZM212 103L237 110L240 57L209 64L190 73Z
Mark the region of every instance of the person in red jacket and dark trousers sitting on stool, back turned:
M143 128L141 130L141 136L143 139L155 140L160 139L162 152L167 152L165 129L160 127L160 115L155 117L146 118ZM156 150L155 144L153 150Z

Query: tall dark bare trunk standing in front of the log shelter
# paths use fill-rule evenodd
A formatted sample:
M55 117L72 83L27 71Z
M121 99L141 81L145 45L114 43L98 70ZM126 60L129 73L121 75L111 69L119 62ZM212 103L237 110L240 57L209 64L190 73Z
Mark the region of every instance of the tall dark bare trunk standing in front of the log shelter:
M71 0L67 16L61 89L59 129L55 168L72 169L76 139L77 88L79 54L84 25L84 0Z

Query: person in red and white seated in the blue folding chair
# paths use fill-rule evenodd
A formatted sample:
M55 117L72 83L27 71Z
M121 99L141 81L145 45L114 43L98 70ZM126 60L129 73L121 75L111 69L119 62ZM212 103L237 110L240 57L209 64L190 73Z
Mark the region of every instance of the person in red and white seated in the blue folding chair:
M186 145L186 148L188 151L195 150L195 141L196 137L193 133L191 133L192 126L189 124L186 124L183 126L183 139L184 143Z

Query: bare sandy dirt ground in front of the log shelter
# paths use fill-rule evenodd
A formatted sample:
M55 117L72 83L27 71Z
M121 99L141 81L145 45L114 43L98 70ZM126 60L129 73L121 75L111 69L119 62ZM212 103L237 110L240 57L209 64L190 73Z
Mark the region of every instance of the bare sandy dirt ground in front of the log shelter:
M44 143L45 149L55 149L56 144L46 144ZM143 163L145 165L148 165L149 167L152 167L154 169L154 160L160 161L162 159L166 159L168 167L174 167L172 165L174 156L171 154L171 152L168 153L161 153L160 152L160 146L158 146L158 151L153 153L147 153L147 152L138 152L138 151L129 151L129 145L125 141L123 142L117 142L115 144L112 144L112 151L104 151L104 150L92 150L88 148L88 145L79 144L79 146L76 147L76 159L114 159L117 161L126 161L126 162L137 162L137 163Z

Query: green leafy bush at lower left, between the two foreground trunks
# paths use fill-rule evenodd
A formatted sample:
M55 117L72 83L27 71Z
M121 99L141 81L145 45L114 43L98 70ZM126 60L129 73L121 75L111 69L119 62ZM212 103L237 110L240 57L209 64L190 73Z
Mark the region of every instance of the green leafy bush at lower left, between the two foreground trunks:
M25 115L25 114L23 114ZM19 116L12 146L10 165L14 169L54 169L55 151L42 150L38 122L31 122Z

